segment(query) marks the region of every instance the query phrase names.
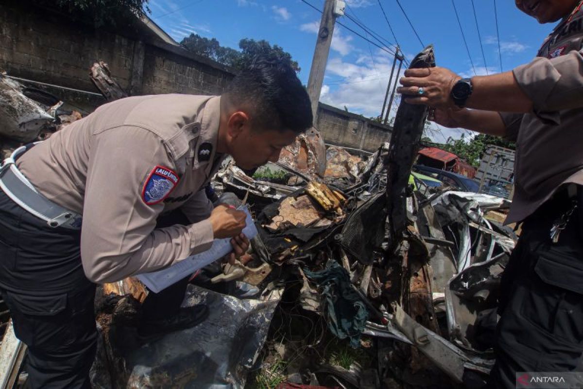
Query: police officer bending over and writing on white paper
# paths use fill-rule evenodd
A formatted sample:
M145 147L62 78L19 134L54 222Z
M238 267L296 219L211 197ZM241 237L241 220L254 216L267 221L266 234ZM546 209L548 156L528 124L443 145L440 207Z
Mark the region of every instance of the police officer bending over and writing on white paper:
M227 155L243 169L275 162L311 124L293 69L257 59L222 96L114 101L6 160L0 292L28 346L31 387L90 387L97 283L175 264L217 238L243 254L245 213L213 209L205 186ZM177 213L183 223L160 223ZM175 319L146 318L146 333L202 320L206 307L177 313L187 282L150 293L145 309L170 306Z

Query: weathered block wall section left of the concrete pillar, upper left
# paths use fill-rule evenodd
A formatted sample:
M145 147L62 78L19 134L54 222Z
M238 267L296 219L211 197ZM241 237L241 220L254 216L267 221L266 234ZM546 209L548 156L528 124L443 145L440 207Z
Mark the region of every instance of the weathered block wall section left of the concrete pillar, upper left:
M9 75L95 91L89 68L97 58L129 85L134 41L64 22L57 14L0 2L0 69Z

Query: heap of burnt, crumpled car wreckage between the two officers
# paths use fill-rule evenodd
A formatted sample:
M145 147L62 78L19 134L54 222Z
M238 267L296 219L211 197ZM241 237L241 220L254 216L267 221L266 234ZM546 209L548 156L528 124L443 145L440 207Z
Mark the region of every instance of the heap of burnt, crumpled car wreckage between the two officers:
M430 46L410 67L434 65ZM96 64L92 75L106 99L125 95L106 64ZM2 133L13 146L80 118L59 111L60 102L28 99L5 76L0 82L33 104L27 108L33 120L17 123L30 139ZM3 110L16 104L6 101L0 100ZM325 150L312 130L267 170L250 176L226 163L212 184L250 206L259 232L250 252L236 265L215 263L192 279L183 304L208 304L203 323L147 344L135 336L147 290L134 278L103 285L93 386L482 383L493 363L498 284L516 237L500 223L508 201L465 192L425 195L409 185L426 116L426 107L402 101L391 142L364 161L342 148ZM490 212L497 218L486 217ZM17 386L26 346L14 337L8 313L0 314L3 389ZM353 356L343 360L343 353Z

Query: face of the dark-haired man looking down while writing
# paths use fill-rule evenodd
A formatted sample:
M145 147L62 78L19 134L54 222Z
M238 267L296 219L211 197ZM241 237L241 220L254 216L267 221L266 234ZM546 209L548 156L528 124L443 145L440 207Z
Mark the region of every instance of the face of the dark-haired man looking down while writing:
M230 139L229 154L241 169L255 169L267 162L277 162L282 149L291 145L296 135L290 130L246 127Z

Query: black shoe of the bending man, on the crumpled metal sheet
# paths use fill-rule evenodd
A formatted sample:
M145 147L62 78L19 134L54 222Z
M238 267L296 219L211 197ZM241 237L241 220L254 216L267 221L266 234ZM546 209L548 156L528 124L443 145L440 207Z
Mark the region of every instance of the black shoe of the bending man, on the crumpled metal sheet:
M138 337L142 338L143 341L147 341L168 332L192 328L196 324L202 323L208 316L209 309L206 305L199 304L181 308L171 317L143 321L138 326Z

